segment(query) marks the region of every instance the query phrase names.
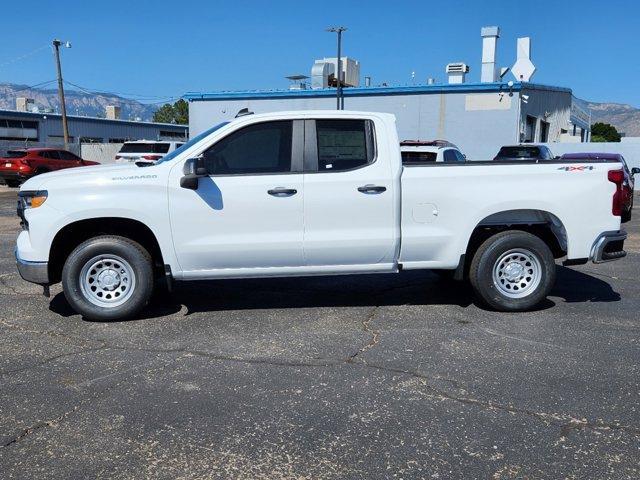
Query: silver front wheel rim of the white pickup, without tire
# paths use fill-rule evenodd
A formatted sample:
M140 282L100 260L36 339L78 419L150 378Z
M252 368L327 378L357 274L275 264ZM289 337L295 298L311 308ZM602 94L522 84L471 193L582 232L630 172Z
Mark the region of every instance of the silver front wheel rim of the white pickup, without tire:
M93 305L114 308L125 303L136 287L133 268L117 255L98 255L80 271L80 289Z

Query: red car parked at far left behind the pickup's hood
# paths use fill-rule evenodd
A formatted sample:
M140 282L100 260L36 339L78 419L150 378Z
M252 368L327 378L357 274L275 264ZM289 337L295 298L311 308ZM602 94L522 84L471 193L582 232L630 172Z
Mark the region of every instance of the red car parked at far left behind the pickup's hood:
M0 178L9 187L17 187L26 179L63 168L99 165L57 148L25 148L9 150L0 157Z

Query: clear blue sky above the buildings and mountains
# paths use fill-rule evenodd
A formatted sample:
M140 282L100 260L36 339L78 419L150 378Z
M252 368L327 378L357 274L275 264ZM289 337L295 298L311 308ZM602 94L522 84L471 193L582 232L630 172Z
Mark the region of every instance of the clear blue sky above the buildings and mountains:
M581 1L35 1L3 2L0 82L55 78L54 37L65 79L90 90L143 95L286 88L315 58L344 53L374 84L445 79L448 62L480 77L480 28L498 25L498 63L515 61L516 38L532 37L533 81L566 86L593 101L640 107L640 2ZM40 50L37 50L41 48ZM36 51L37 50L37 51ZM34 52L35 53L32 53ZM31 53L31 54L30 54ZM25 58L20 58L25 54Z

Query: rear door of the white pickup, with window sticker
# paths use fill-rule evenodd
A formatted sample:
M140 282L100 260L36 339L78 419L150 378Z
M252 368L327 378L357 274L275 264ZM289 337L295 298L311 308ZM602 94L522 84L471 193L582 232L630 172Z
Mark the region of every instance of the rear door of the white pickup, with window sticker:
M308 266L394 268L393 180L371 120L305 121L304 255Z

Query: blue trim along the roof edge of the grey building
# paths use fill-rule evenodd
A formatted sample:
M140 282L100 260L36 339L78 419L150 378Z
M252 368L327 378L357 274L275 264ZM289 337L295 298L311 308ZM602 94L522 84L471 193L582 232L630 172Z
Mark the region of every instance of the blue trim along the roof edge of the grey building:
M345 97L366 97L370 95L419 95L437 93L471 93L471 92L514 92L523 89L547 90L571 93L571 89L553 87L526 82L514 82L513 87L507 83L463 83L459 85L435 84L435 85L412 85L401 87L355 87L343 90ZM250 100L259 98L321 98L335 97L334 88L310 89L310 90L248 90L248 91L221 91L221 92L187 92L183 98L193 101L202 100Z

